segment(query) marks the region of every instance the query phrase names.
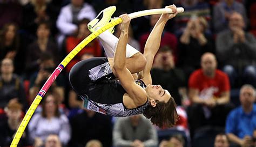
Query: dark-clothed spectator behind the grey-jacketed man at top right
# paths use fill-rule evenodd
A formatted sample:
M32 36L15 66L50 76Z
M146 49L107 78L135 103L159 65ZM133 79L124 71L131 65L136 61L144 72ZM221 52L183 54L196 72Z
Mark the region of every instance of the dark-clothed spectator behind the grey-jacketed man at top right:
M245 21L245 26L247 24L247 17L244 5L235 0L224 0L220 1L213 8L213 27L215 33L227 30L228 20L234 12L239 13L242 19Z

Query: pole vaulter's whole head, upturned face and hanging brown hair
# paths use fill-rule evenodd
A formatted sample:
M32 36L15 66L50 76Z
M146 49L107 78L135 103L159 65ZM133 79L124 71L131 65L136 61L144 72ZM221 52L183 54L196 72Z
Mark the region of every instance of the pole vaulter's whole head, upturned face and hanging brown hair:
M147 119L158 127L174 126L179 116L176 111L176 102L170 92L160 85L147 85L145 90L150 102L150 106L143 113Z

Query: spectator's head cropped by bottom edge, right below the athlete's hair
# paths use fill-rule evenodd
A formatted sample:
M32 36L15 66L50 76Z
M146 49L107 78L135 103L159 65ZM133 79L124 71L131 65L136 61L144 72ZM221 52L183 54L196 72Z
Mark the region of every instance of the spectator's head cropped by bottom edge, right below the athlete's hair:
M181 135L172 136L169 141L161 141L159 147L184 147L185 141Z

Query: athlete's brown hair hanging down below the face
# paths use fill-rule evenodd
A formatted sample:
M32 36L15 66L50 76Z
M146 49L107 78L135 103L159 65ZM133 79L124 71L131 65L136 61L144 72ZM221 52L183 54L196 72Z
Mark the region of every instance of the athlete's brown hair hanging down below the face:
M143 115L160 128L173 127L176 124L176 121L179 120L176 106L176 102L171 97L167 102L158 102L156 107L149 105L145 109Z

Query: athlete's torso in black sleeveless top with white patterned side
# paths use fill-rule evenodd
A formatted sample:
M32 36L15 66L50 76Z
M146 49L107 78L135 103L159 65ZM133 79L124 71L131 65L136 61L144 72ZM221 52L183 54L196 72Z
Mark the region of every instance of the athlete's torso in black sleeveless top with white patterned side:
M145 83L142 80L135 80L135 82L146 88ZM149 102L145 102L144 105L137 108L128 109L123 104L123 95L126 91L120 85L118 80L112 80L111 82L100 83L90 85L91 88L84 95L80 97L84 100L84 108L92 111L116 116L126 117L132 115L142 114Z

